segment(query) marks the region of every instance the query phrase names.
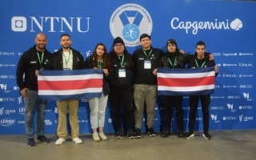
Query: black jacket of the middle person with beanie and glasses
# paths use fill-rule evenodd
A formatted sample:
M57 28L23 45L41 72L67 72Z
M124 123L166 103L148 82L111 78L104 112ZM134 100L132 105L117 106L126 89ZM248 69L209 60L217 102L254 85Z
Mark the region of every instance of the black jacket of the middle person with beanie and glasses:
M110 88L117 89L117 90L126 90L131 88L133 83L133 69L134 69L134 61L132 56L128 53L124 53L123 55L123 66L121 66L121 61L118 58L118 55L114 52L110 52L110 61L112 68L114 70L113 79L110 81ZM126 77L120 78L118 76L118 70L125 69L126 70Z

